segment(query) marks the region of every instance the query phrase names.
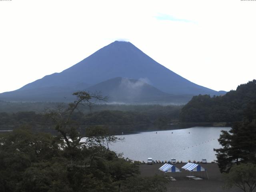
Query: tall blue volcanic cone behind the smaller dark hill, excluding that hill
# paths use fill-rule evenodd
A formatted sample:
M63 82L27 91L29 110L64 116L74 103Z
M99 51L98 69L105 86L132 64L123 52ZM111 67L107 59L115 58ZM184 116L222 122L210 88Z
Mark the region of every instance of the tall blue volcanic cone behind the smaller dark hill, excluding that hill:
M58 98L58 92L65 94L61 97L67 96L66 94L71 94L74 90L85 90L89 86L116 77L143 79L151 86L168 94L219 95L217 91L194 84L172 72L132 43L115 41L60 73L44 76L16 91L0 94L0 99L30 100L34 98L33 100L37 100L39 91L44 101L51 101L51 97ZM29 95L26 96L28 92ZM20 94L22 99L19 98Z

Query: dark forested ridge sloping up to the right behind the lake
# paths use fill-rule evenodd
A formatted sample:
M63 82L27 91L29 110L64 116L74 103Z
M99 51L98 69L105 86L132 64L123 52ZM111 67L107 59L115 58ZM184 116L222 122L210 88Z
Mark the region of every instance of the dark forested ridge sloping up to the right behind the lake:
M181 122L236 122L256 101L256 80L239 85L223 96L194 96L180 112Z

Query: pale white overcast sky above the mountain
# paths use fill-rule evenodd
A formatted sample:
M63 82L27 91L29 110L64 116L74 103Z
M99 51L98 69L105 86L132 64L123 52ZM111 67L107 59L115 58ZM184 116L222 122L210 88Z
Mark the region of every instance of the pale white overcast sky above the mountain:
M0 93L128 40L214 90L256 78L256 1L0 0Z

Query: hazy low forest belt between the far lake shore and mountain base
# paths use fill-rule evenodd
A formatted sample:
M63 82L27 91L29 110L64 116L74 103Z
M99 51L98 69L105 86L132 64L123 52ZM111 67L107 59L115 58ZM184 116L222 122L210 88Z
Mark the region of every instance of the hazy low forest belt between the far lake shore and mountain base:
M3 102L4 103L4 102ZM43 107L41 103L35 103L37 108L26 103L9 103L12 110L1 112L0 110L0 130L14 130L22 126L30 127L33 131L52 132L54 123L47 118L39 109ZM46 103L46 107L51 103ZM52 103L53 107L57 103ZM60 103L59 103L60 105ZM1 105L0 105L1 106ZM9 105L7 105L9 106ZM17 111L24 106L24 110ZM63 105L66 107L66 104ZM82 106L83 107L83 106ZM177 122L182 106L114 106L96 105L92 112L84 107L79 112L72 114L72 120L78 122L85 131L89 126L106 126L112 134L133 133L150 129L167 129L170 123ZM11 112L12 111L12 112Z

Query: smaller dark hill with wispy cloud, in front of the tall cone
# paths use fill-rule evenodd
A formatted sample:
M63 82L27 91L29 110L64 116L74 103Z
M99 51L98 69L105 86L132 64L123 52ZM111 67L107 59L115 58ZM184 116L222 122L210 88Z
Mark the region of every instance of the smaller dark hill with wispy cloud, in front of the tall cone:
M86 89L88 92L100 91L108 96L108 102L127 103L186 103L192 95L172 95L158 90L143 80L112 78Z

